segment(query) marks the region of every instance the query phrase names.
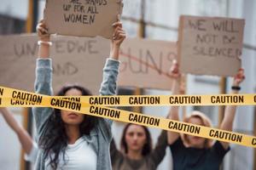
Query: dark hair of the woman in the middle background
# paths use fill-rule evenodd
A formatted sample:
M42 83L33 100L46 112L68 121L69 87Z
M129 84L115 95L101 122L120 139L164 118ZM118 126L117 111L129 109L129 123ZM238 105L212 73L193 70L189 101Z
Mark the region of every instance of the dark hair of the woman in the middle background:
M125 134L127 133L127 129L128 127L130 127L131 125L136 125L136 126L140 126L140 127L143 127L144 129L144 132L146 133L146 144L143 145L143 156L148 156L148 154L151 153L151 150L152 150L152 139L151 139L151 135L148 131L148 127L144 127L144 126L141 126L141 125L137 125L137 124L132 124L132 123L129 123L125 126L124 128L124 131L123 131L123 134L122 134L122 138L121 138L121 150L125 151L125 154L128 153L128 146L127 146L127 143L125 141Z

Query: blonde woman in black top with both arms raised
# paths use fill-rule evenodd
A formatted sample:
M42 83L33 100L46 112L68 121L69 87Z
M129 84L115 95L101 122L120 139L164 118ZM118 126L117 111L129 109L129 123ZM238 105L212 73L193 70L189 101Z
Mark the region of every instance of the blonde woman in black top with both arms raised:
M174 78L172 92L178 94L180 72L177 62L172 67L172 77ZM240 69L233 80L232 94L238 94L239 85L244 79L244 71ZM232 131L235 115L236 106L227 105L224 111L224 119L219 128ZM172 106L169 118L179 120L177 106ZM190 116L184 119L184 122L212 127L210 119L200 111L193 111ZM218 170L225 154L230 150L229 143L216 141L213 144L210 139L171 131L168 131L168 144L172 151L173 170Z

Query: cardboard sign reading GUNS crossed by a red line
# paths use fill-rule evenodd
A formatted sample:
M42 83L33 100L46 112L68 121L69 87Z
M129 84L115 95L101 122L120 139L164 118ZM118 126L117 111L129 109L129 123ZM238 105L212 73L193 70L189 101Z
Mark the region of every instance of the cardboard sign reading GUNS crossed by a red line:
M170 90L168 72L177 57L176 42L130 38L120 52L119 86Z

